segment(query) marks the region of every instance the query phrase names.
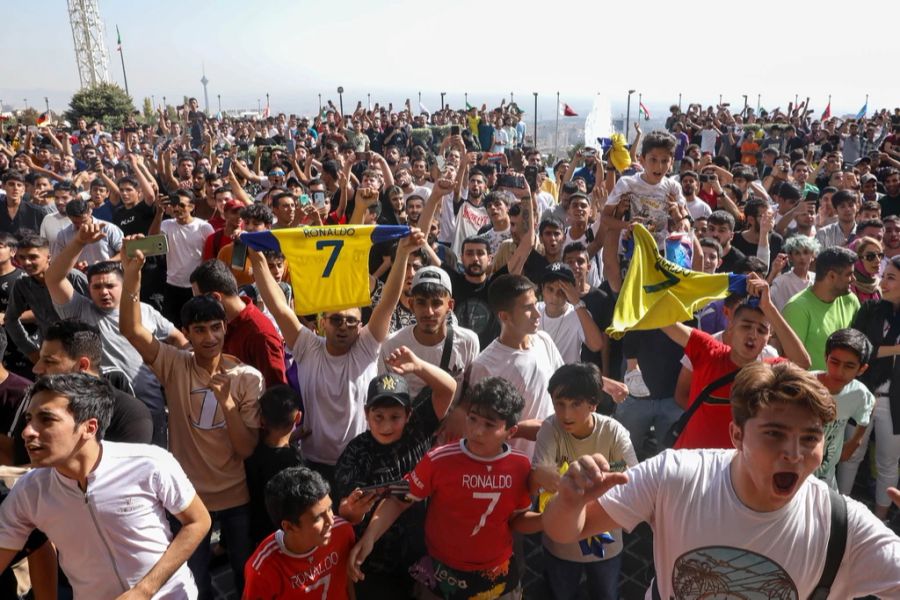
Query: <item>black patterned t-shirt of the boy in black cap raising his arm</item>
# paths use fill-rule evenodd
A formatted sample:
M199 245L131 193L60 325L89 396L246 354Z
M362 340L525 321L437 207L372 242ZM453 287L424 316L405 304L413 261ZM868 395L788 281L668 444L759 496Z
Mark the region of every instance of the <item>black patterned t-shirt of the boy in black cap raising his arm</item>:
M430 389L425 388L416 398L398 441L379 444L368 431L350 440L334 469L335 504L358 487L402 479L431 449L439 425ZM365 531L372 512L357 527L357 534ZM366 559L366 568L372 573L405 573L425 554L424 525L425 502L416 502L375 543Z

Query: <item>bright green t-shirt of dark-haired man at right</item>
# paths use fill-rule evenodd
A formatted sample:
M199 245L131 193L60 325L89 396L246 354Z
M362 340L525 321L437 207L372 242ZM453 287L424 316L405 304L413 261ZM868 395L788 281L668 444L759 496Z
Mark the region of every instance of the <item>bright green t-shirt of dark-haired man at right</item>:
M812 369L825 370L825 340L837 331L850 327L859 300L855 294L845 294L834 302L822 302L807 288L784 305L784 319L803 342L812 360Z

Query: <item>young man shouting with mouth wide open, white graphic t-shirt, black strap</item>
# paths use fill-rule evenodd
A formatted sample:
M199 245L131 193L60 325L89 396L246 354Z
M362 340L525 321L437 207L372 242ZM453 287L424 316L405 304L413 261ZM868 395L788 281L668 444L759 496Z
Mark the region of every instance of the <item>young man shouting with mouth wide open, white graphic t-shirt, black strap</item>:
M825 569L832 502L811 475L834 400L796 365L754 362L732 385L731 409L734 450L670 450L627 473L610 472L600 454L581 457L545 510L544 531L570 543L649 522L661 598L693 596L685 590L709 581L722 597L770 589L809 598ZM828 597L900 596L900 538L862 504L846 505L847 544Z

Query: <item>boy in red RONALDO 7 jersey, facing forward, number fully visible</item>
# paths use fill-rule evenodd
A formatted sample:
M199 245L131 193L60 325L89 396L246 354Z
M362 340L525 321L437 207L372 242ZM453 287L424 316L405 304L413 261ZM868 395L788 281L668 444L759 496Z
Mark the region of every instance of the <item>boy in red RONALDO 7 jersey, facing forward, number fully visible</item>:
M524 404L504 379L478 382L468 399L465 437L435 448L406 476L412 500L429 498L428 556L413 567L424 597L518 597L512 532L540 530L540 515L528 511L531 461L507 444ZM388 498L378 507L350 553L352 579L364 577L374 543L409 506Z

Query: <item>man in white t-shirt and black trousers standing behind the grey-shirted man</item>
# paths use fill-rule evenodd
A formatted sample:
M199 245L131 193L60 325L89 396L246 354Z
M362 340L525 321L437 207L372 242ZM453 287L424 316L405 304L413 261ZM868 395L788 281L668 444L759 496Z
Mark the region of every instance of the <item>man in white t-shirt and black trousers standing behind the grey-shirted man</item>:
M194 194L190 190L176 190L169 196L174 219L163 221L159 232L166 236L166 295L163 314L181 327L181 307L190 300L191 273L203 262L203 245L213 234L213 227L203 219L194 218ZM156 233L153 227L150 234Z

